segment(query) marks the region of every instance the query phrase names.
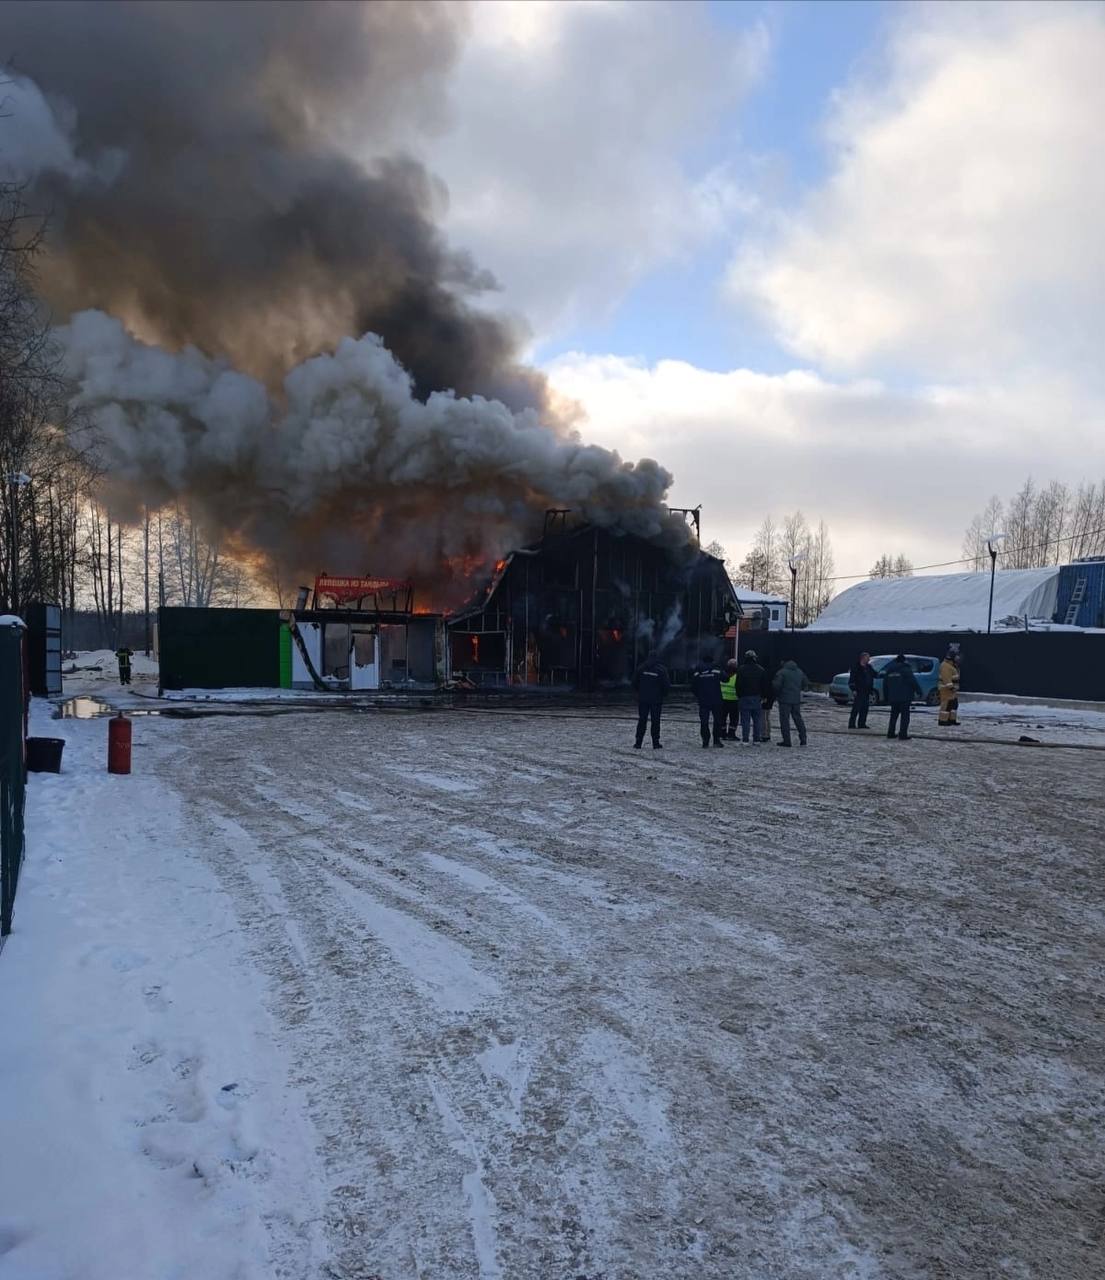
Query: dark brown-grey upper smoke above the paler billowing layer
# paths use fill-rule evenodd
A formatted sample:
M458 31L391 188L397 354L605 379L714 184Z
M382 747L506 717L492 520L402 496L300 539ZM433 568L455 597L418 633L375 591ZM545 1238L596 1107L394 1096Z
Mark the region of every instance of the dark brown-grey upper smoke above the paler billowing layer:
M371 330L419 394L539 403L516 328L465 302L494 282L446 244L443 188L408 157L366 172L338 147L383 154L397 123L440 120L464 19L419 0L3 5L14 73L74 113L99 166L37 175L49 301L270 380Z

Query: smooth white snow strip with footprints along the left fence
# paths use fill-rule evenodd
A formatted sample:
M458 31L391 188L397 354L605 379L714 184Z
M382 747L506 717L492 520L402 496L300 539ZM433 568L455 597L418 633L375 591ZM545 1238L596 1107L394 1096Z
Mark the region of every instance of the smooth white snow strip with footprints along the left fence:
M106 724L51 721L32 774L15 931L0 955L0 1274L60 1280L315 1274L321 1181L202 833Z

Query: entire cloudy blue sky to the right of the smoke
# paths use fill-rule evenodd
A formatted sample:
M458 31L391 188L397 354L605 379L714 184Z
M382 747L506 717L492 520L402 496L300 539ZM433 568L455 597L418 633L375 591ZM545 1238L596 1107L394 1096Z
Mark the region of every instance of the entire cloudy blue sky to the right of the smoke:
M1105 6L476 5L411 141L579 428L739 559L1105 476Z

